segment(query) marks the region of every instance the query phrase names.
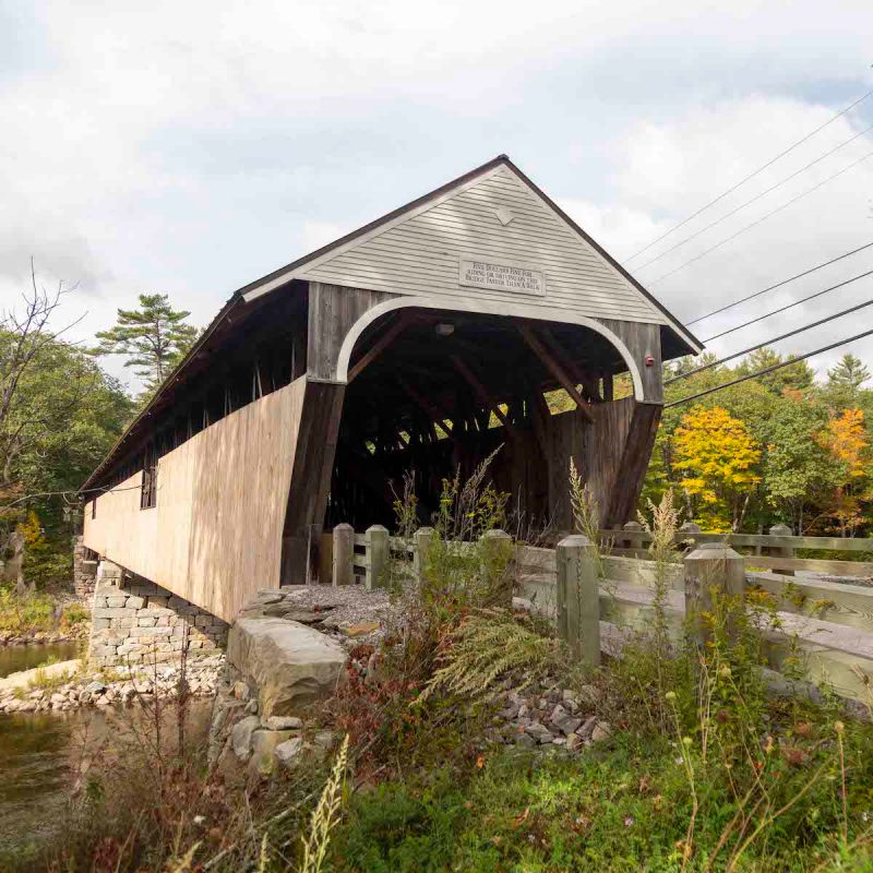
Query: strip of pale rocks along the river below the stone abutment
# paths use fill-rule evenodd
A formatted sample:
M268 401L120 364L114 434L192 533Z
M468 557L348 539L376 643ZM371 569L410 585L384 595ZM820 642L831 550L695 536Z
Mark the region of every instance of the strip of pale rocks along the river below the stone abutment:
M224 655L189 661L184 669L187 693L192 697L211 697L224 665ZM0 713L68 713L136 705L156 695L178 695L180 679L181 667L177 663L110 670L91 670L80 660L45 665L0 681Z

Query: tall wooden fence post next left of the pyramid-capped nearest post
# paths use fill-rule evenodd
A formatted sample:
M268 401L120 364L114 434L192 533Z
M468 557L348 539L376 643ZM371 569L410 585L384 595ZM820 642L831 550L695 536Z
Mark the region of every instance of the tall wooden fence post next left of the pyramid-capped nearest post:
M555 549L558 635L584 663L600 663L600 589L591 542L582 534L564 537Z

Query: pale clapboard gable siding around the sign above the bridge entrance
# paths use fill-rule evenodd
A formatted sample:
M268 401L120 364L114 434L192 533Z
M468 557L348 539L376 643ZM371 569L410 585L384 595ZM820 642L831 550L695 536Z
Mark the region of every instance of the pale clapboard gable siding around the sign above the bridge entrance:
M504 225L498 210L512 216ZM505 217L504 213L504 217ZM470 288L461 259L541 271L545 295ZM665 314L571 228L509 167L500 166L424 207L315 259L298 278L392 294L490 301L590 318L666 324Z

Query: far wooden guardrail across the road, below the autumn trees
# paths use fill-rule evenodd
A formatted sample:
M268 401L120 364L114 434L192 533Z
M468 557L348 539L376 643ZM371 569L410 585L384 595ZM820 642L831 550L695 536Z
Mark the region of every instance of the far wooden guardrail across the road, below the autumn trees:
M625 558L647 558L646 546L651 541L637 522L623 528L600 531L600 540L611 543L611 552ZM723 542L734 549L752 550L743 554L746 569L776 570L793 573L798 570L833 576L854 576L873 583L873 561L840 561L822 558L797 558L800 550L846 552L873 557L873 539L844 537L796 537L786 525L774 525L768 534L707 534L697 525L685 524L677 534L677 545Z

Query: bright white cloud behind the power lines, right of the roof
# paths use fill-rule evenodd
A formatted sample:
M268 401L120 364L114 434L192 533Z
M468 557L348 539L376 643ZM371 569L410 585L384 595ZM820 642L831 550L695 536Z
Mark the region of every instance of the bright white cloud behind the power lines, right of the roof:
M632 256L762 166L777 151L790 146L833 116L833 109L826 107L755 96L657 127L646 122L632 128L619 144L622 155L617 160L613 179L614 203L571 201L563 205L678 316L691 320L873 241L870 215L873 157L826 181L873 153L870 134L850 142L809 171L730 214L869 127L873 111L868 109L866 121L861 111L835 121L711 208L639 256ZM818 190L765 217L820 182L825 183ZM727 216L725 220L705 229L722 216ZM762 218L760 224L744 229ZM701 230L704 232L696 236ZM734 234L739 234L736 239L714 249ZM685 239L689 239L685 244L669 252ZM714 250L699 260L687 263L710 249ZM663 252L669 253L662 255ZM718 334L869 270L873 270L873 250L694 324L692 330L704 338ZM872 292L873 277L868 277L708 345L719 355L746 348L870 299ZM798 352L812 350L861 333L865 325L873 327L870 311L785 340L778 348ZM824 374L845 350L816 356L811 363ZM873 339L857 343L853 350L869 358L873 352Z

